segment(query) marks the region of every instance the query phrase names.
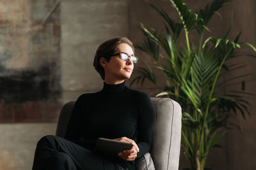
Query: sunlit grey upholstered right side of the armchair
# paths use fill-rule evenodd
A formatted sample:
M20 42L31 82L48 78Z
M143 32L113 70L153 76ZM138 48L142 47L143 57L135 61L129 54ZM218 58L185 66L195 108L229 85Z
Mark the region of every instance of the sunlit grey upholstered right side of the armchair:
M157 170L179 169L181 108L168 98L151 98L156 109L150 154Z

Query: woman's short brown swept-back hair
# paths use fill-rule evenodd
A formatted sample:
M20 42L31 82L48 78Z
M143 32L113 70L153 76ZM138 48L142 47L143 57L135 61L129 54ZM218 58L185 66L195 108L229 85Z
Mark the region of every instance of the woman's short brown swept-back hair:
M105 41L98 47L95 53L93 66L95 67L96 71L100 74L102 80L105 80L105 71L104 68L100 65L100 58L104 57L106 61L109 62L109 60L111 59L111 55L113 55L117 50L116 47L123 43L131 46L132 51L134 52L134 46L132 45L132 41L130 41L126 37L109 39L108 41Z

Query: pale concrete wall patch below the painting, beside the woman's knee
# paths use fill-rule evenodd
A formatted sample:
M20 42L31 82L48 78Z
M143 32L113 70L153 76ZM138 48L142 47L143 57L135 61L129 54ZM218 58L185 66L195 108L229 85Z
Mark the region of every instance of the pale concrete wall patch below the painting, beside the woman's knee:
M55 131L55 123L0 124L0 169L32 169L36 142Z

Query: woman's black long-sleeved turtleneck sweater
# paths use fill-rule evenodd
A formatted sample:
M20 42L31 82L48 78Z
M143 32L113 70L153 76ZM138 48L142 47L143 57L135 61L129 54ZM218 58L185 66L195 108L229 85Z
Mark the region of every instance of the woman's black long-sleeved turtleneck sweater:
M145 92L129 89L125 81L104 83L101 91L77 99L65 138L93 152L98 138L127 137L140 148L139 158L150 150L154 118L154 107ZM115 160L134 169L134 161Z

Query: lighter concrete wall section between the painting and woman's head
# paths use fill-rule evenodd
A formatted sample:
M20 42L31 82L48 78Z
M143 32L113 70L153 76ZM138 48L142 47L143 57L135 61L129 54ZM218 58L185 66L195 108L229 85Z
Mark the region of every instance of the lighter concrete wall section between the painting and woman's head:
M97 47L106 39L129 36L129 1L61 3L61 85L63 100L102 88L93 67Z

